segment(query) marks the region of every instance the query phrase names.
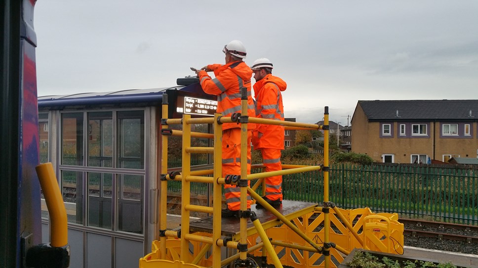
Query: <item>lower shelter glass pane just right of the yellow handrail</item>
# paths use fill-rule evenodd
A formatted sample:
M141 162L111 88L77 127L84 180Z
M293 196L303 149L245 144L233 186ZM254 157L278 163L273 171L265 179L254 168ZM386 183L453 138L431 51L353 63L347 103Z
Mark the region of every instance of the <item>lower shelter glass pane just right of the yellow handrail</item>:
M61 185L68 222L83 223L83 172L62 170Z

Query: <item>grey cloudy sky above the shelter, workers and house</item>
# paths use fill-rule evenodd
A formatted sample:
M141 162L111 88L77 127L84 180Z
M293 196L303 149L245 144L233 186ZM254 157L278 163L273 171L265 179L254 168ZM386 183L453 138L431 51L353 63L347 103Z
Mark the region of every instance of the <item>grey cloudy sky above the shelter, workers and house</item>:
M300 122L329 106L347 125L358 100L478 98L476 0L38 0L34 25L39 96L174 86L238 39Z

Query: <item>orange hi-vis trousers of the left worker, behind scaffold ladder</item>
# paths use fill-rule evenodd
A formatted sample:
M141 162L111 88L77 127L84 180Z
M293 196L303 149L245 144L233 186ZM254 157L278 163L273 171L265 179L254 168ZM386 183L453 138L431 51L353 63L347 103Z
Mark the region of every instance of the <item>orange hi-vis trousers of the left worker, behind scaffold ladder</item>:
M240 132L241 129L233 128L222 132L222 176L227 174L240 175ZM251 173L251 137L252 131L247 131L247 174ZM250 186L250 181L247 182ZM226 203L229 210L240 209L240 187L224 184ZM247 208L252 204L252 199L247 194Z

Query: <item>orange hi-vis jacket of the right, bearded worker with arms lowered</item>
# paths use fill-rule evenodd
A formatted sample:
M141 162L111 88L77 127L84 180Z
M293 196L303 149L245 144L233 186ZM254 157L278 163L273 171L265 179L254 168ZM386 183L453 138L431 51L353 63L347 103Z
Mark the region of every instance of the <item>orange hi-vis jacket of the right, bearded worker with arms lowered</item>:
M254 84L256 117L284 121L284 106L280 92L286 88L285 81L272 74L257 81ZM252 135L252 145L254 150L284 149L284 127L257 124Z

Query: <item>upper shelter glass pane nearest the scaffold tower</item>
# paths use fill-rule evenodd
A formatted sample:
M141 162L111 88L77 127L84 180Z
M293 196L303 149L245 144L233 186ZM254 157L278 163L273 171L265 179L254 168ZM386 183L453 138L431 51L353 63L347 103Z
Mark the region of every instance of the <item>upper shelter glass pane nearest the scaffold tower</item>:
M118 167L144 169L144 111L118 112Z

